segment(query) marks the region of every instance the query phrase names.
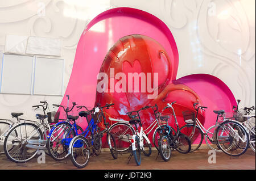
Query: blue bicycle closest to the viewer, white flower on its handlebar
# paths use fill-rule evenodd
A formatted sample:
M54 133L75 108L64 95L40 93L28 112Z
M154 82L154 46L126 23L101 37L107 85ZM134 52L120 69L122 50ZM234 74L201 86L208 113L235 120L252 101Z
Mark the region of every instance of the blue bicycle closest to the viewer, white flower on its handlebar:
M69 144L69 157L73 165L78 168L83 168L88 164L89 157L93 155L99 155L101 153L102 148L102 141L101 138L107 133L107 137L110 138L108 141L110 153L114 159L117 159L117 149L115 146L115 140L111 133L109 133L109 126L110 124L106 122L106 117L103 113L103 109L108 109L110 106L114 104L106 104L103 107L95 107L92 110L88 110L85 106L79 106L78 108L81 109L84 107L87 111L79 112L79 116L86 117L88 127L85 129L85 132L81 133L80 135L74 137L70 144ZM100 112L101 111L101 112ZM100 113L101 114L100 114ZM98 132L99 128L97 127L98 119L94 121L93 116L90 119L90 115L95 115L95 113L100 114L103 118L105 129ZM88 136L88 134L90 135ZM83 134L85 134L83 136ZM92 154L90 154L90 150L92 149ZM80 158L81 156L81 158Z

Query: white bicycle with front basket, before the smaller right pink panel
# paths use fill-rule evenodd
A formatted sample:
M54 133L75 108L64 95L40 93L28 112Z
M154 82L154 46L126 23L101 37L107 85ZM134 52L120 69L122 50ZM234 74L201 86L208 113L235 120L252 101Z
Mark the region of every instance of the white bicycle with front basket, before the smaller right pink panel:
M205 142L212 150L218 152L223 151L231 156L239 156L245 153L249 145L248 134L245 128L243 128L240 123L232 121L229 117L226 117L224 110L220 110L213 111L217 114L216 123L212 125L212 127L205 129L197 119L197 115L199 109L204 111L204 108L207 107L198 106L196 108L195 106L198 104L199 103L193 103L193 107L197 112L196 116L194 112L191 112L190 115L187 114L188 111L183 112L184 120L187 124L180 129L184 134L189 136L192 143L196 140L197 136L200 136L200 143L191 151L199 149L203 142L203 138L205 138ZM234 153L234 151L238 151L238 153Z

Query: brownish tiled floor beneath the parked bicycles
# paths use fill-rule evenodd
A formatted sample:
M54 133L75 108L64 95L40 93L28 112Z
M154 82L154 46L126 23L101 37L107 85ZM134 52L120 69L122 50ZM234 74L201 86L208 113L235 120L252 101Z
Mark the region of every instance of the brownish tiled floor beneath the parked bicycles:
M101 170L101 169L254 169L255 170L255 153L247 150L241 157L229 157L224 153L216 154L216 163L209 164L209 149L200 149L189 154L180 154L177 151L172 152L169 162L164 162L162 158L156 159L158 152L152 151L150 157L142 155L141 166L136 166L134 158L127 165L129 154L118 155L118 159L113 160L112 155L108 152L102 152L98 157L91 157L88 165L84 169ZM39 164L37 158L24 164L16 164L9 161L5 155L0 155L0 169L77 169L72 165L69 158L65 161L54 161L47 155L46 163Z

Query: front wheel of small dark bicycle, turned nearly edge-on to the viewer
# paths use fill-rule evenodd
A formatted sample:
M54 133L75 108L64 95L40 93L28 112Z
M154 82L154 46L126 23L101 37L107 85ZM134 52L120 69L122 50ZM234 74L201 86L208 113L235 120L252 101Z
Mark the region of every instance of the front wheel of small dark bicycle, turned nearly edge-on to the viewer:
M159 153L162 159L168 162L171 158L170 138L167 134L162 134L159 139Z

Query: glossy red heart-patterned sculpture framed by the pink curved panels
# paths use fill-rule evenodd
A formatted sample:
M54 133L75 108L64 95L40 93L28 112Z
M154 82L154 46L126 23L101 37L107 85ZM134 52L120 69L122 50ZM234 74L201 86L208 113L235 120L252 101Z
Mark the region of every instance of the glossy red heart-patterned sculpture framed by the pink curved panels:
M123 92L118 93L113 90L110 92L110 82L112 81L116 85L119 81L110 78L110 69L114 70L114 74L125 73L127 84ZM177 120L182 126L185 124L182 112L185 110L195 111L193 103L201 103L199 96L193 90L172 81L174 66L171 65L166 50L157 41L147 36L130 35L119 39L106 54L100 72L108 75L109 86L103 92L97 91L95 103L101 105L114 103L113 108L109 108L106 112L117 119L129 120L126 112L135 111L144 106L157 104L159 110L162 110L167 103L176 101L174 109ZM134 92L134 85L128 85L129 73L151 73L151 86L154 85L153 73L158 73L158 84L155 85L158 88L158 95L154 99L148 99L148 95L152 92L148 92L147 89L146 92L142 92L142 79L139 81L139 92ZM98 80L98 83L101 80ZM129 86L133 87L133 92L127 92ZM141 111L140 115L144 129L155 120L155 116L150 109ZM204 124L205 115L203 112L199 113L199 120ZM173 117L170 120L170 125L174 127ZM153 131L150 133L150 138L152 138L152 133Z

